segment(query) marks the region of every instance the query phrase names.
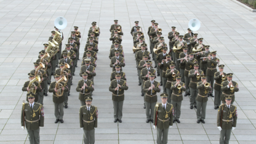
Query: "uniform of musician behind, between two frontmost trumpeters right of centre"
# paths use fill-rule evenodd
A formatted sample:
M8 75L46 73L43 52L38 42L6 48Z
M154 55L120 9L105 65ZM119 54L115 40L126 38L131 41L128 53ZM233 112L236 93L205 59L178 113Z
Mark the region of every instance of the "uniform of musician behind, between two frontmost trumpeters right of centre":
M196 96L198 95L198 89L196 89L198 82L201 82L201 78L196 78L197 74L194 74L195 70L190 70L188 78L190 78L190 106L196 106ZM204 74L203 71L198 70L198 73Z

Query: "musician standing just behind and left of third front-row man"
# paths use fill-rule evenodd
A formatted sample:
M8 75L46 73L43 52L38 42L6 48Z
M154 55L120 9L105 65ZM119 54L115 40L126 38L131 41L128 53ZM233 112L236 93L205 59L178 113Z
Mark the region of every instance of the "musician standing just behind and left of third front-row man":
M161 92L160 84L154 81L156 74L150 73L150 80L145 81L143 91L145 92L146 123L154 122L154 106L158 102L157 92Z

